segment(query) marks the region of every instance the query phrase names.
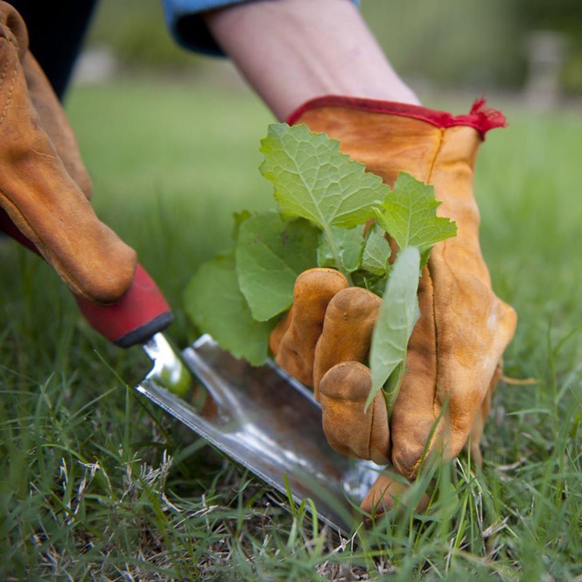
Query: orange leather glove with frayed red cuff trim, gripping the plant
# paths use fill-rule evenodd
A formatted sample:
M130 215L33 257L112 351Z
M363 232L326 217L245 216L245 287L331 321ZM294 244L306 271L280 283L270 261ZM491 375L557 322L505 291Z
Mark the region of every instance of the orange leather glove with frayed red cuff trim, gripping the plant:
M401 171L433 184L442 201L438 214L457 223L457 236L436 244L423 269L420 318L390 423L381 394L364 414L371 379L363 362L380 303L374 294L349 288L332 269L303 272L293 307L271 335L279 365L314 386L331 446L376 463L391 462L409 480L443 407L428 455L442 450L451 459L471 436L473 458L480 462L491 392L516 326L514 310L492 292L478 241L475 155L485 132L505 123L501 113L482 105L453 117L414 105L323 97L289 120L338 139L341 151L390 186ZM397 492L401 484L380 475L362 508L382 513Z

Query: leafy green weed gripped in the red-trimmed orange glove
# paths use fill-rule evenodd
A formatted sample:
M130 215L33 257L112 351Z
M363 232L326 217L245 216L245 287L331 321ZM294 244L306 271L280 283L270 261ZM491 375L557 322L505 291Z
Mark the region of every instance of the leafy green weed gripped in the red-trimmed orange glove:
M432 186L402 172L391 190L342 154L338 141L304 125L269 126L261 152L278 210L235 215L233 246L193 276L187 312L233 356L261 365L269 333L293 303L297 275L338 269L351 285L382 297L367 402L383 390L391 411L418 319L420 272L432 246L456 235L455 223L437 217ZM386 235L398 247L395 257Z

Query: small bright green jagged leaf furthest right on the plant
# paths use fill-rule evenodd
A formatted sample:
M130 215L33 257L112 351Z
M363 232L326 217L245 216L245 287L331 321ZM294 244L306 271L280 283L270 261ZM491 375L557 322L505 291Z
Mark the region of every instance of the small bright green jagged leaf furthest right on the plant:
M433 244L457 233L455 222L437 217L440 204L432 186L400 172L392 194L381 208L374 208L374 214L379 225L396 240L400 249L417 247L425 262Z

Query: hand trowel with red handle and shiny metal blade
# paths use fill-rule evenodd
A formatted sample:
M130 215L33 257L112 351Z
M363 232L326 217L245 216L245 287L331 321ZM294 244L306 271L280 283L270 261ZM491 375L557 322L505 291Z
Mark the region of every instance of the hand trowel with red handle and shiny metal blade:
M0 210L0 229L34 246ZM118 303L98 306L75 296L88 323L120 347L141 345L152 368L135 388L215 448L293 501L313 500L318 517L348 532L379 467L335 452L325 438L321 407L273 361L253 367L222 350L209 335L177 353L162 331L172 313L138 265ZM194 407L178 393L204 387Z

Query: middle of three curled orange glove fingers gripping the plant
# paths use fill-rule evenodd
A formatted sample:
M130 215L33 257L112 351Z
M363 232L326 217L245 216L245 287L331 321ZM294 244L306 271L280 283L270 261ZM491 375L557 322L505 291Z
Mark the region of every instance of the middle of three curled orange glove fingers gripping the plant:
M382 300L360 287L342 289L329 301L324 327L315 347L313 393L319 400L325 372L342 361L363 362L370 350L372 329Z

